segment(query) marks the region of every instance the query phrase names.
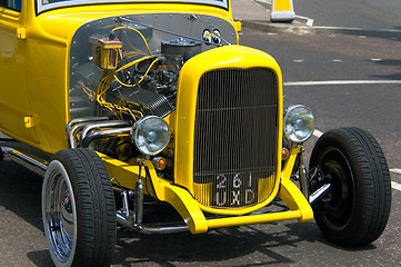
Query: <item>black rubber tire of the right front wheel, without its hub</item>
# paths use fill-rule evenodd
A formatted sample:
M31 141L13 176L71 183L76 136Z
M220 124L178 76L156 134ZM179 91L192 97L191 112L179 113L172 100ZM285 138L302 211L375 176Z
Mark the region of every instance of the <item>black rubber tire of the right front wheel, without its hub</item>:
M362 139L358 137L362 137ZM347 158L353 176L353 209L347 225L344 225L341 230L332 229L328 226L324 221L324 214L320 209L313 209L319 228L330 241L337 245L355 246L371 243L381 235L385 227L384 225L379 228L372 228L372 225L378 224L375 221L379 221L379 219L373 218L373 211L369 210L371 206L377 207L375 204L372 202L372 196L378 197L374 187L382 185L377 182L377 180L385 178L383 176L385 168L381 166L381 168L378 169L378 165L374 162L377 157L374 157L374 155L371 157L371 155L368 154L372 152L372 150L375 150L375 154L382 154L382 151L381 149L373 149L374 145L361 140L375 142L370 134L358 128L331 130L318 140L311 155L310 168L313 168L320 164L322 156L329 149L338 149ZM373 177L373 174L379 177ZM387 187L384 189L389 190ZM388 217L389 215L384 212L384 216ZM371 234L372 230L377 233ZM372 238L367 238L365 236L368 235L371 235Z

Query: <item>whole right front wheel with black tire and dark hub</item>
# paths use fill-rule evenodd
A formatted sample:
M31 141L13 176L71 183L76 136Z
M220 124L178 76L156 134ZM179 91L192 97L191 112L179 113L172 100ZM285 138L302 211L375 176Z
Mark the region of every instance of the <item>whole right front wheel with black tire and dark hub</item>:
M331 184L313 207L323 235L341 246L361 246L378 239L390 215L391 181L377 140L358 128L328 131L313 148L312 168Z

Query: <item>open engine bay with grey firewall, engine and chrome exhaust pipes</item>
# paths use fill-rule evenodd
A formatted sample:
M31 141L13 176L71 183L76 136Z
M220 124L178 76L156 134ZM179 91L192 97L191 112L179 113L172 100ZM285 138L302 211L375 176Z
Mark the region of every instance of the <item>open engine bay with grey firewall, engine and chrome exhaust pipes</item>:
M133 140L133 128L154 116L147 123L169 130L163 122L176 109L182 66L203 51L235 43L235 37L231 23L204 14L130 14L86 23L70 51L70 146L130 164L147 155L164 166L157 168L159 176L172 179L174 134L163 149L144 152L139 148L143 136ZM146 131L148 149L161 147L153 140L160 132Z

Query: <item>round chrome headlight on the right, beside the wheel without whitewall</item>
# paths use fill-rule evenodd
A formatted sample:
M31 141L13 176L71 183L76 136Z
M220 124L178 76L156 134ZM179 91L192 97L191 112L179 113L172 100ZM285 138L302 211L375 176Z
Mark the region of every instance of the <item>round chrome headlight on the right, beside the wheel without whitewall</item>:
M308 140L314 131L314 116L305 106L291 106L284 115L284 135L293 142Z

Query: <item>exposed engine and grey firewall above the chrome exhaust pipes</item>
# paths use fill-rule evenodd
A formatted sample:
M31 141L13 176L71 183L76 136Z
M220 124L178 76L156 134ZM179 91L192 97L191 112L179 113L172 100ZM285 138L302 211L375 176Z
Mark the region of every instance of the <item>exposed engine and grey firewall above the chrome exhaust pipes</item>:
M128 14L90 21L72 38L71 119L164 118L176 109L184 62L230 43L237 43L232 24L205 14Z

